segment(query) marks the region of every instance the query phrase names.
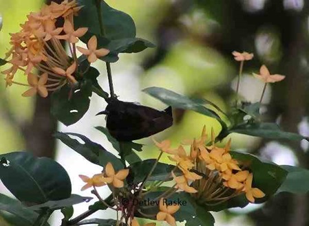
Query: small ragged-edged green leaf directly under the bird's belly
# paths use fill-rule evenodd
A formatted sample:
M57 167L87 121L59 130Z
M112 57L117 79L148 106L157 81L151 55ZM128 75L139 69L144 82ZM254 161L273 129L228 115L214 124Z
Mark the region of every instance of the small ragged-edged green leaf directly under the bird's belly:
M111 142L112 146L119 152L122 153L125 159L130 163L136 163L138 161L142 161L138 155L134 152L134 150L142 151L142 144L136 144L134 142L118 142L114 137L112 137L107 130L102 126L95 127L98 131L105 134L109 142Z

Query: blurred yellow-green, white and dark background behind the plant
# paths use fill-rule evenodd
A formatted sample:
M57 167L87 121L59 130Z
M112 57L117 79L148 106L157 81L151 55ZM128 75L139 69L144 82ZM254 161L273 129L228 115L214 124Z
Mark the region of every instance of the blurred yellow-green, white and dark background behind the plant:
M277 122L284 130L309 135L308 127L308 29L309 2L306 0L131 0L107 1L114 8L130 14L138 37L157 45L140 54L122 55L112 65L116 93L120 100L141 102L157 109L164 104L142 93L146 87L165 87L191 97L215 102L228 111L235 100L235 82L239 63L231 52L253 52L255 58L245 63L241 82L242 100L259 100L263 84L255 80L262 64L272 74L286 75L283 82L272 84L264 98L264 120ZM9 33L19 30L30 11L39 10L43 0L0 0L3 28L0 32L0 56L9 48ZM100 83L107 89L105 69ZM2 70L2 69L1 69ZM3 77L4 78L4 77ZM22 74L19 80L25 79ZM89 113L81 122L65 128L49 115L50 101L22 98L23 87L5 89L0 80L0 152L30 150L38 156L56 157L66 169L69 155L65 146L56 144L52 133L79 132L98 142L106 142L93 126L103 124L94 117L104 109L102 100L94 96ZM215 120L190 111L174 110L175 124L156 139L169 138L177 146L182 139L200 135L204 124L216 133ZM232 135L232 148L281 164L297 164L309 168L306 142L282 142ZM158 152L149 139L142 157L156 157ZM106 144L108 145L108 144ZM67 149L67 148L66 148ZM63 157L65 156L65 157ZM76 157L70 154L70 157ZM66 165L67 164L67 165ZM89 167L90 168L90 167ZM68 170L76 177L76 168ZM73 179L74 181L74 179ZM74 185L74 183L73 183ZM76 182L76 192L80 189ZM1 188L0 188L1 189ZM228 210L215 215L216 225L309 225L308 196L279 194L266 205L250 205L244 210Z

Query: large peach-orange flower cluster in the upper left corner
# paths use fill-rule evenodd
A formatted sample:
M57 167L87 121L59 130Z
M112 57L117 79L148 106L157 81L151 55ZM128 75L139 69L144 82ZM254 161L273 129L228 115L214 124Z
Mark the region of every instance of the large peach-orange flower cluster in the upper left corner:
M12 48L6 54L6 59L11 67L2 71L6 75L6 87L12 84L30 87L23 96L39 93L43 98L47 97L49 91L61 89L66 84L74 87L78 77L83 77L83 72L78 71L76 43L88 30L87 27L74 30L74 16L82 7L75 0L65 0L60 4L52 2L44 5L40 12L31 12L27 16L28 20L21 25L21 31L10 34ZM58 19L64 20L63 27L56 27ZM61 41L67 42L70 56ZM89 63L109 54L109 50L96 49L96 46L96 36L92 36L88 43L89 50L81 50L88 56ZM15 80L19 70L28 77L28 84ZM41 75L38 71L41 71Z

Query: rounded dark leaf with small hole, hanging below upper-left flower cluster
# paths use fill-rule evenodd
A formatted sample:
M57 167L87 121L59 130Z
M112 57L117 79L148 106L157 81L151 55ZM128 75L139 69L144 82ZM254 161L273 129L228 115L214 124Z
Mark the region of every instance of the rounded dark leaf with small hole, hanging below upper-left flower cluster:
M88 111L91 96L92 82L89 80L81 81L77 89L66 85L52 93L51 113L65 126L70 126Z

